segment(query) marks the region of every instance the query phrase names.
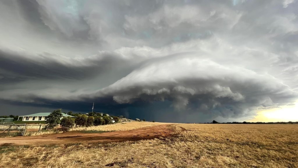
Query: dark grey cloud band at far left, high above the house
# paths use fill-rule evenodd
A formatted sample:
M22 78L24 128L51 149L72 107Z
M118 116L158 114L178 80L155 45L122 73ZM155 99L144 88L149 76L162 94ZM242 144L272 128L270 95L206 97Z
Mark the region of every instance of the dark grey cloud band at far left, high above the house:
M56 57L56 58L53 58ZM62 58L63 59L63 58ZM101 53L97 56L90 56L84 59L64 58L63 61L58 55L42 53L37 56L24 53L14 53L0 50L0 72L8 71L16 77L12 81L29 79L77 79L84 80L105 73L113 66L119 66L121 60L116 53ZM2 77L8 78L2 73ZM17 78L17 79L16 79Z

